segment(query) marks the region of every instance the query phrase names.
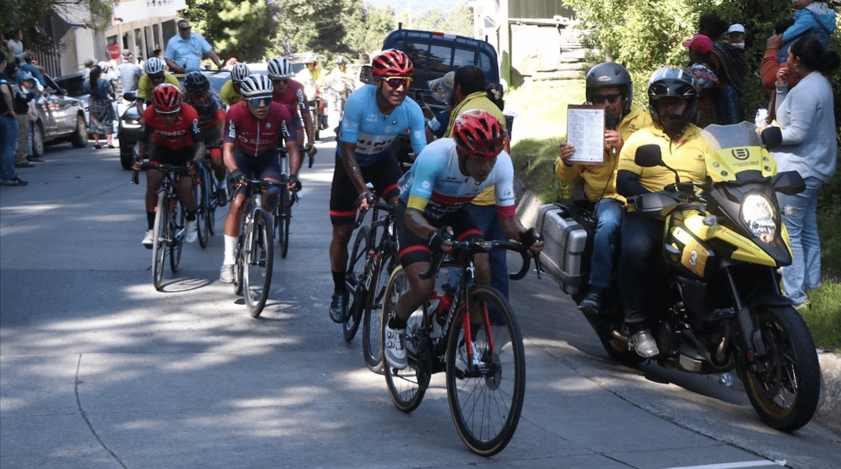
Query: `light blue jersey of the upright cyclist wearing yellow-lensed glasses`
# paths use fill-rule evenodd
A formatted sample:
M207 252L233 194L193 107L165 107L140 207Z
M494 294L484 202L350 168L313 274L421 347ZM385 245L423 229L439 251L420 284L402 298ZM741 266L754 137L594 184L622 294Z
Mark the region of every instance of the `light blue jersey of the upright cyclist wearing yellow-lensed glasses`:
M420 154L426 146L421 106L406 97L389 115L384 115L377 106L378 92L379 88L373 85L361 87L345 102L336 153L341 155L341 143L356 144L359 166L368 166L388 155L391 142L405 129L410 130L415 153Z

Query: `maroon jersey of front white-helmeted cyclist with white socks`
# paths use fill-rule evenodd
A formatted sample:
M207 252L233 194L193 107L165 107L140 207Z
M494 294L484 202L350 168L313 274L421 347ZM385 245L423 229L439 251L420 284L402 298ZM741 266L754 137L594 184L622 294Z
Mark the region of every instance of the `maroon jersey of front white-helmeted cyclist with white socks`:
M280 103L272 103L266 119L258 120L248 110L246 102L241 101L228 109L226 120L224 142L233 143L249 156L277 149L281 137L286 141L296 137L292 116Z

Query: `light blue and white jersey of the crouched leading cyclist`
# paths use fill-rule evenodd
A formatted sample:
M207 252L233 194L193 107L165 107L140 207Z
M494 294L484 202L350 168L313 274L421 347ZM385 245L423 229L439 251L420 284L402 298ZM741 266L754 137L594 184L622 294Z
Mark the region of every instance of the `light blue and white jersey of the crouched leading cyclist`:
M398 184L400 201L408 208L421 210L433 224L448 213L458 211L490 186L494 186L500 217L515 214L514 165L505 151L496 157L488 178L479 182L462 173L455 140L436 140L426 145Z

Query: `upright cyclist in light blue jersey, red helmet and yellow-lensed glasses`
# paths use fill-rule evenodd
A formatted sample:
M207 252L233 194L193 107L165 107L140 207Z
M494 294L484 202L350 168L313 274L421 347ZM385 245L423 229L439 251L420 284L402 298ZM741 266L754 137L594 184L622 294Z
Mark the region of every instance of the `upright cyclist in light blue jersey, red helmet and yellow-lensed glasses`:
M347 244L351 240L357 206L368 208L373 193L388 203L397 200L397 180L401 172L391 143L405 129L415 153L426 146L425 122L421 107L406 94L415 66L400 50L384 50L373 58L373 85L352 92L345 103L345 115L336 132L336 169L330 193L330 266L334 291L330 305L333 322L345 320L348 294L345 288Z

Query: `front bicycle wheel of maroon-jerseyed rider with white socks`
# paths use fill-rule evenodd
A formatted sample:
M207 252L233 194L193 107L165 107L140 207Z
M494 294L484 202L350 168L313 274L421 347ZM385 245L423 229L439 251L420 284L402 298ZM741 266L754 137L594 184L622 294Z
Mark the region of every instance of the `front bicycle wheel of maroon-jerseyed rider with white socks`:
M242 290L246 295L248 311L255 318L266 306L268 291L272 286L272 224L266 215L262 210L254 213L251 232L246 234L243 252Z

